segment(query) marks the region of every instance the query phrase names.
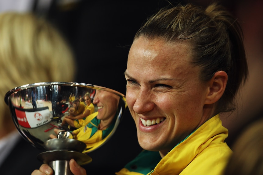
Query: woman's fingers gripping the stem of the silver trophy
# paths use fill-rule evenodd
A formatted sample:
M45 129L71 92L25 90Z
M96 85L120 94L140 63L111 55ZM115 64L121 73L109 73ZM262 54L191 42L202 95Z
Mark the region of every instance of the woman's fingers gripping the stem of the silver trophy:
M74 175L86 175L86 170L79 166L74 159L71 159L69 162L70 171ZM42 164L39 170L34 170L31 175L52 175L53 170L48 164Z

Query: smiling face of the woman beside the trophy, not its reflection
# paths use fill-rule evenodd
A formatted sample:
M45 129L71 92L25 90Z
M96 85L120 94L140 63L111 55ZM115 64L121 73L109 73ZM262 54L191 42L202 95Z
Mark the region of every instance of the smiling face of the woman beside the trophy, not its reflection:
M143 149L164 155L205 122L207 84L187 44L136 39L128 55L126 100Z

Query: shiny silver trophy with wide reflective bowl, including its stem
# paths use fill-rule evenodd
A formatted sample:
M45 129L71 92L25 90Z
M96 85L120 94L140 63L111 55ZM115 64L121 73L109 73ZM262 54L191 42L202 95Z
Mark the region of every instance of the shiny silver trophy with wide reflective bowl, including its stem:
M84 100L83 100L84 99ZM17 130L54 174L72 174L69 160L90 163L87 155L106 143L127 107L113 89L76 82L39 82L11 89L5 103Z

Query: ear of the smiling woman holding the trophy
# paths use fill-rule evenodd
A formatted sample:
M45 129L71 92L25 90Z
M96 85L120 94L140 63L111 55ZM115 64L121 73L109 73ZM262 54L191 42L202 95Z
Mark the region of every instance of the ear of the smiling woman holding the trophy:
M218 71L214 74L212 79L208 82L209 89L205 104L213 104L221 98L225 92L227 79L228 76L225 71Z

